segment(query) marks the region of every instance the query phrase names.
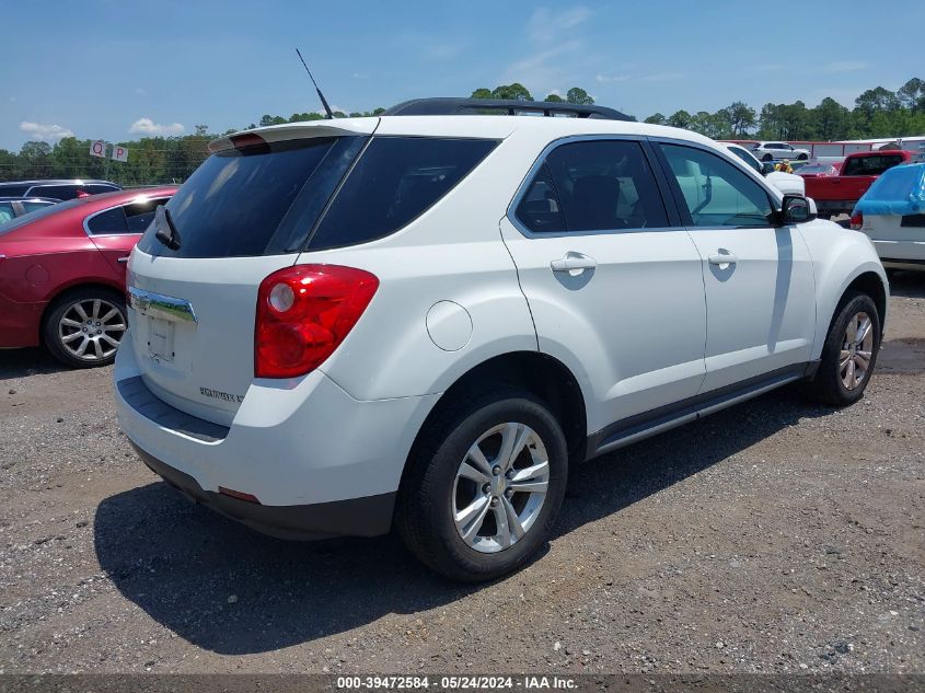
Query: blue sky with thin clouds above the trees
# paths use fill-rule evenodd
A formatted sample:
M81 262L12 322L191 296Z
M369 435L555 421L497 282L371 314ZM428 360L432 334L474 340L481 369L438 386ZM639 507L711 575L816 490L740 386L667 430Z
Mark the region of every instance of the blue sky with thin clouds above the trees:
M222 132L264 114L469 96L513 81L536 99L571 86L639 119L733 101L824 96L925 78L925 2L606 3L47 0L10 2L0 43L0 148L60 137ZM883 8L889 8L887 12ZM870 41L866 39L869 38ZM860 44L864 44L863 46ZM863 49L862 49L863 48Z

